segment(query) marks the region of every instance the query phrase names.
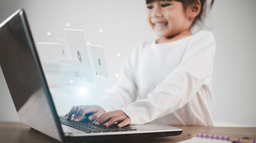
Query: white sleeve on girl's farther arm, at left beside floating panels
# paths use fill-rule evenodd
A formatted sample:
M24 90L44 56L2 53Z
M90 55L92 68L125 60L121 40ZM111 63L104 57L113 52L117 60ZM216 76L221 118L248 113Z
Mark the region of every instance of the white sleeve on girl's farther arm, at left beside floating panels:
M131 57L122 64L118 82L110 89L107 98L100 102L99 105L105 111L120 110L137 99L137 85L134 73L137 69L138 46L132 49Z

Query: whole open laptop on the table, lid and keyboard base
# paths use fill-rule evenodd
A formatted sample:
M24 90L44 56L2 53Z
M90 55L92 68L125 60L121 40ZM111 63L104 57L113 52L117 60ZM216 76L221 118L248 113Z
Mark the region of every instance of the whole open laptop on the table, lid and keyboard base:
M155 123L96 128L86 117L73 122L58 115L24 10L0 24L0 64L20 122L58 141L150 138L183 131Z

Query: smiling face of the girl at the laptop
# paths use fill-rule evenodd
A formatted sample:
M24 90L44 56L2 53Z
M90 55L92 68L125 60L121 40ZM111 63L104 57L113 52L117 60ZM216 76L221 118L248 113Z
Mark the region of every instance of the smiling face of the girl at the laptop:
M181 2L155 1L147 4L147 20L160 38L171 38L189 30L192 21Z

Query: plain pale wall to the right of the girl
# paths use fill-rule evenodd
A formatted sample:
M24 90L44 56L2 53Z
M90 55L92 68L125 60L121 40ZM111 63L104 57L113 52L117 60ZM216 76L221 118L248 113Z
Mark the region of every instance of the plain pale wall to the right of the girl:
M255 6L254 0L225 0L213 7L213 117L224 125L256 126Z

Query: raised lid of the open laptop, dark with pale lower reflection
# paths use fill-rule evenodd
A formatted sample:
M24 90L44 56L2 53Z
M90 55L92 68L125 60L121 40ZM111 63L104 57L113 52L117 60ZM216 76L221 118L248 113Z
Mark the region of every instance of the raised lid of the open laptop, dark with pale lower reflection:
M64 141L24 10L0 24L0 64L20 122Z

